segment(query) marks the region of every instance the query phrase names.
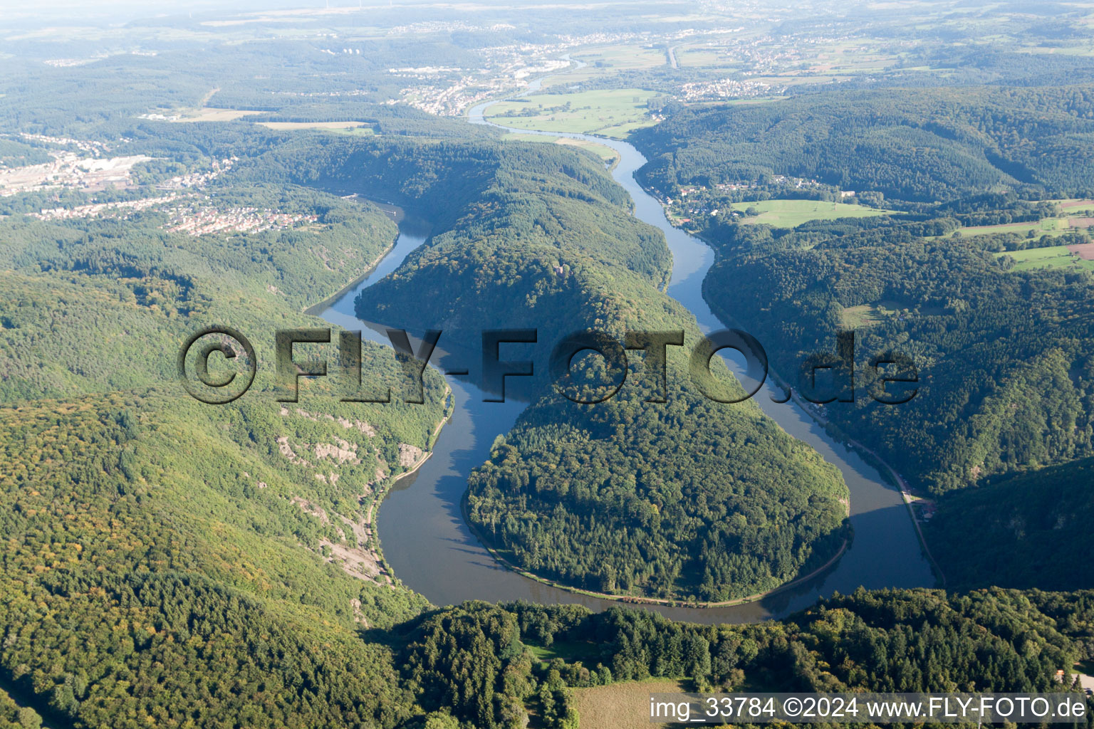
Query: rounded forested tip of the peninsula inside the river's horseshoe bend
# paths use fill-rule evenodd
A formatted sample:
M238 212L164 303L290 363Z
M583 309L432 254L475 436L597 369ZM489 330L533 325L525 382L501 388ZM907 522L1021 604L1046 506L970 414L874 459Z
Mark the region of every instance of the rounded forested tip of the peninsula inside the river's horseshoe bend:
M724 408L538 401L472 474L468 517L519 566L585 589L707 601L773 589L849 538L846 486L771 421Z

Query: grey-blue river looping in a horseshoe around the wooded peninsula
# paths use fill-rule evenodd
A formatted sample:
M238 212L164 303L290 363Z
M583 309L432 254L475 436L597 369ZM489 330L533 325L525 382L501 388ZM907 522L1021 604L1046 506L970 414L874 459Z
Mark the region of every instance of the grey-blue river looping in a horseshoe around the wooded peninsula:
M534 82L529 91L538 89ZM482 111L490 102L473 108L473 124L490 124ZM496 125L497 126L497 125ZM659 227L665 235L673 255L673 273L668 295L684 304L695 315L703 331L722 329L723 325L702 298L702 280L714 260L714 254L702 240L674 228L665 219L661 203L635 180L635 171L645 164L645 157L627 142L589 134L545 133L551 137L584 139L612 148L619 161L613 177L633 200L635 216ZM372 341L387 344L376 329L362 327L353 314L353 299L364 287L394 271L407 254L420 246L429 235L428 225L420 221L401 220L395 247L376 269L348 290L322 316L330 324L362 329ZM763 343L763 332L753 332ZM449 356L438 351L434 362L445 368ZM740 372L732 360L731 367ZM386 496L377 517L380 541L384 556L395 576L411 589L424 595L438 605L464 600L527 600L542 604L580 603L592 610L604 610L619 602L591 598L543 585L499 565L475 538L464 521L459 508L467 487L467 475L481 465L496 436L507 433L525 403L484 402L482 392L465 378L447 377L452 386L455 411L452 421L441 431L432 457L415 473L399 481ZM899 491L888 485L873 466L853 450L833 439L796 404L776 403L781 392L768 380L755 396L755 401L790 435L814 447L843 474L851 494L851 526L854 537L839 561L808 580L778 591L756 602L728 608L677 608L642 605L675 620L701 623L746 623L781 618L801 610L834 591L850 592L863 586L929 587L934 584L931 568L923 556L919 539Z

